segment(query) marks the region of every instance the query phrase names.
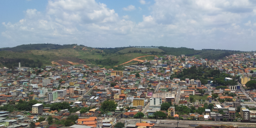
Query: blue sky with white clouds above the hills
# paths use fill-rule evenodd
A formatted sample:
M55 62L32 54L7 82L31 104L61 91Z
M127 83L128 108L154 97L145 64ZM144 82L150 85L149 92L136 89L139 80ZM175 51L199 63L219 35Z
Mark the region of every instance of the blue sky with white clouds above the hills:
M0 47L256 47L255 0L1 0L0 23Z

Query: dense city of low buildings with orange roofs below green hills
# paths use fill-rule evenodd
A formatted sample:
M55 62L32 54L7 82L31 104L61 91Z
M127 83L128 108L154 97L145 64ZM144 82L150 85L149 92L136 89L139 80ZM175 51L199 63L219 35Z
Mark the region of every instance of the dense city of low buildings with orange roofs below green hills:
M218 127L255 123L255 53L219 60L184 54L149 56L154 59L137 60L124 70L93 65L29 68L20 63L13 69L2 67L1 127L188 128L206 127L209 121Z

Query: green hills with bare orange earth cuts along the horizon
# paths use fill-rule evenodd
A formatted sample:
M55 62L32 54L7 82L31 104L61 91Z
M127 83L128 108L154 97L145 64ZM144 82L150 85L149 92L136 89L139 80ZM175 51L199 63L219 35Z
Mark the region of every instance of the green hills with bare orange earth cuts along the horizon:
M233 53L241 53L241 51L231 50L215 50L202 49L195 50L193 48L174 48L163 47L159 48L143 48L143 47L116 47L116 48L93 48L84 45L69 44L27 44L16 47L0 48L0 66L13 68L18 66L25 67L41 67L42 65L69 65L69 64L92 64L101 67L110 67L125 63L134 58L145 56L147 53L157 53L161 55L176 55L180 56L196 56L207 59L222 59ZM142 57L140 60L152 60L154 56ZM137 62L137 61L136 61ZM131 63L135 63L134 61ZM130 64L130 63L128 63ZM118 66L117 68L122 68Z

